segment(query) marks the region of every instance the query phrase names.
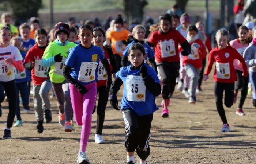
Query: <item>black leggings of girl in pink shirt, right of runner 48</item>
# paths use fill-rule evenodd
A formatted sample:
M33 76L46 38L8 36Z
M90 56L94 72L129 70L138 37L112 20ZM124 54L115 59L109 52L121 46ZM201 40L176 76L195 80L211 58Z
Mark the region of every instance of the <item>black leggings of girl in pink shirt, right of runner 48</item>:
M235 91L238 92L239 89L241 90L241 98L239 101L238 108L243 108L244 101L247 96L247 90L248 90L248 82L249 82L249 76L248 77L243 77L242 74L243 72L240 70L236 70L237 73L237 82L235 83Z

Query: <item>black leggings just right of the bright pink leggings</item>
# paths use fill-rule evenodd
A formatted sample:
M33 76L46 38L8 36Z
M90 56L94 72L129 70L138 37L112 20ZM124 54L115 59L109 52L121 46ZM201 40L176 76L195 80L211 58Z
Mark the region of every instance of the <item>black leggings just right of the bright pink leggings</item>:
M105 120L105 110L108 103L109 92L106 86L101 86L97 88L97 93L99 93L98 106L97 106L97 125L96 125L96 134L101 135L103 124ZM94 106L93 113L96 109L96 102Z

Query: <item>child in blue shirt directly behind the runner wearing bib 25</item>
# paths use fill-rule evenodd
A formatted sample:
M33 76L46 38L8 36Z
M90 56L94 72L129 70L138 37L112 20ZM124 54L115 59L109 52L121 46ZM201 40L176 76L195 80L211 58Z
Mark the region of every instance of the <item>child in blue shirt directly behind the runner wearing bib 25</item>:
M125 48L123 52L123 58L121 61L121 64L123 67L130 65L128 62L128 49L133 43L140 43L144 46L145 52L146 52L146 58L145 58L145 63L147 63L147 59L151 63L152 67L154 70L157 72L157 65L155 63L155 58L154 58L154 51L152 48L145 43L145 34L146 34L146 28L142 25L136 25L132 29L132 36L133 36L133 41L128 44L128 46Z

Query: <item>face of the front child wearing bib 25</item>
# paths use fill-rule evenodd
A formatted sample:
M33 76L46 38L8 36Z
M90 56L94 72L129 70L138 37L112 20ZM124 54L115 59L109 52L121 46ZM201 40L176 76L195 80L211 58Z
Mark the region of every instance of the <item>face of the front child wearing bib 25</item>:
M143 55L139 49L135 49L130 51L128 60L133 66L138 67L142 62L144 62L145 57L146 55Z

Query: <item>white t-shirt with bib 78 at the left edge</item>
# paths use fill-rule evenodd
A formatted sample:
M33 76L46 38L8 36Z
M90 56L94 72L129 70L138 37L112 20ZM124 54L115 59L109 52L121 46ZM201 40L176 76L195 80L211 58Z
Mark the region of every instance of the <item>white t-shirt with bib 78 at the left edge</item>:
M9 44L7 47L0 47L0 81L7 82L14 80L13 65L7 65L4 60L12 58L12 60L22 60L22 56L17 47Z

